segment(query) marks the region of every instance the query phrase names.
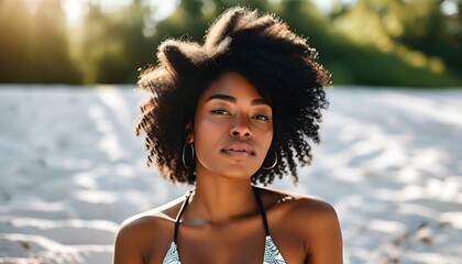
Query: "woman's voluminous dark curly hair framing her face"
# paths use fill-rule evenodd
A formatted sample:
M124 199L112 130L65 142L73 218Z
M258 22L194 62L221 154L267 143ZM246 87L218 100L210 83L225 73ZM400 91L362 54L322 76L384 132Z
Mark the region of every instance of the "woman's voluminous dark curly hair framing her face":
M145 133L147 165L173 183L195 184L195 166L182 162L183 147L200 95L226 72L244 76L267 99L273 110L274 136L271 147L277 165L260 168L253 184L271 184L292 174L297 165L309 165L311 146L319 143L321 109L328 107L324 86L329 73L317 63L317 51L272 14L231 8L211 24L202 45L166 40L157 53L157 66L140 75L140 88L152 92L141 105L136 135ZM271 164L270 151L264 164ZM274 160L273 160L274 161Z

